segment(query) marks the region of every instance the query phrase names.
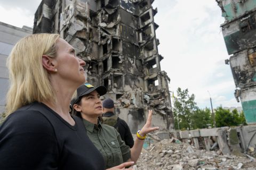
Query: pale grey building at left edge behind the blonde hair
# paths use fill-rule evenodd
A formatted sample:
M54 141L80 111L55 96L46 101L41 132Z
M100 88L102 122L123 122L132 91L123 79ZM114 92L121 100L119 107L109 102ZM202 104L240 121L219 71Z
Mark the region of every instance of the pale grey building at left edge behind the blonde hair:
M9 75L6 67L6 59L13 46L19 39L32 34L33 29L22 28L0 22L0 114L4 112L5 96L9 87Z

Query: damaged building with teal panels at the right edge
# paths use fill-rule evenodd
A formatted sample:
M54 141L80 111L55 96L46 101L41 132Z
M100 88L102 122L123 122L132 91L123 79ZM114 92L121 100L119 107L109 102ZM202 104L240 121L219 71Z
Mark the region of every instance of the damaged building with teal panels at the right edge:
M236 85L235 97L241 101L246 122L256 123L256 1L216 0L225 17L221 24Z

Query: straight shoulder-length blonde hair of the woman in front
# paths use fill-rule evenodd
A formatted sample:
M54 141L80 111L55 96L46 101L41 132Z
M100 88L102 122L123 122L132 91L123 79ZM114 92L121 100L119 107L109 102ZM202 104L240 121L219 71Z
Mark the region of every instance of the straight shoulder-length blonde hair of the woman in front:
M55 99L42 56L56 57L58 34L40 33L22 38L7 58L10 88L6 96L6 117L18 108Z

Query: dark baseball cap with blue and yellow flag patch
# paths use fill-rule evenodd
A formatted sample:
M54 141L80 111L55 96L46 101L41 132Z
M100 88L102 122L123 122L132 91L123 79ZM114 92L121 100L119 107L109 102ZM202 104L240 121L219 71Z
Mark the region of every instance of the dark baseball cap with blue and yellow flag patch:
M105 86L98 86L95 88L94 86L92 86L92 84L85 83L76 89L77 97L71 100L71 105L73 106L75 103L77 103L79 98L81 98L84 95L90 94L90 92L94 90L96 90L100 96L105 95L107 93L107 89Z

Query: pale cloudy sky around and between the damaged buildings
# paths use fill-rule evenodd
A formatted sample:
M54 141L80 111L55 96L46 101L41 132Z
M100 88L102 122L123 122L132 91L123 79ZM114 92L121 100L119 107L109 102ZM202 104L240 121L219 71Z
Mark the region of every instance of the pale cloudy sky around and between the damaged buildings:
M33 27L34 13L41 1L0 0L0 21L16 27ZM171 91L188 88L196 96L201 108L238 107L234 97L235 83L222 37L220 24L224 22L215 0L155 0L159 25L159 54L164 56L161 70L167 72ZM209 92L208 92L209 91Z

